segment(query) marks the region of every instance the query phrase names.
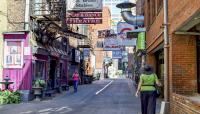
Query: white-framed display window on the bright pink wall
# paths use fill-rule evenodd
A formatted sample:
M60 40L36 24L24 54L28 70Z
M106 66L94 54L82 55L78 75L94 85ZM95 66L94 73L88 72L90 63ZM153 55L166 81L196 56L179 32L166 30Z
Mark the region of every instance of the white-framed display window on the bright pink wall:
M4 68L22 68L23 42L6 40L4 42Z

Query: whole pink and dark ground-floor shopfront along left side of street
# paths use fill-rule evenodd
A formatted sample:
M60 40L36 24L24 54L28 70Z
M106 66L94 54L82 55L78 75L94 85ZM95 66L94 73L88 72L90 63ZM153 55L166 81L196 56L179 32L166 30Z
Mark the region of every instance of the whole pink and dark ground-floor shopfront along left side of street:
M10 89L22 93L25 91L25 97L30 99L36 78L45 80L45 89L48 90L68 85L66 46L59 46L58 42L52 45L38 42L27 31L6 32L3 36L3 78L9 77L14 82L9 86ZM60 42L60 45L66 44L65 41Z

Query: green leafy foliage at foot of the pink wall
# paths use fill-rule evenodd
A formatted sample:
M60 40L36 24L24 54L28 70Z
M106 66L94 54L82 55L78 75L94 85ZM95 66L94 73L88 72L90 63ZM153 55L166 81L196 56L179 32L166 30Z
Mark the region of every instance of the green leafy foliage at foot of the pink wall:
M19 91L9 91L4 90L0 91L0 104L11 104L11 103L20 103L21 94Z

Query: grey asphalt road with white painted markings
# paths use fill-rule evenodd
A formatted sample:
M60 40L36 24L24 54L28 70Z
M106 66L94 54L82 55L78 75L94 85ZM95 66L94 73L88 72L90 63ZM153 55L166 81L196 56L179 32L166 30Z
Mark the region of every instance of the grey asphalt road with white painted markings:
M79 86L77 93L70 88L51 100L2 105L0 114L141 114L134 92L128 79L100 80Z

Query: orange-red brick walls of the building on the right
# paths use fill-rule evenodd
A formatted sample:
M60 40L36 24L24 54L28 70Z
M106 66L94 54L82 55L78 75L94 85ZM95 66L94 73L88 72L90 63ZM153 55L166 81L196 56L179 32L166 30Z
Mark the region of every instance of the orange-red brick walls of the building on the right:
M195 36L175 35L173 32L200 9L200 0L169 0L169 82L171 114L199 114L199 104L186 95L197 92L197 63ZM145 1L145 26L147 27L147 62L155 64L153 50L163 42L163 8L154 22L148 25L147 1ZM152 14L150 12L150 14ZM176 93L176 94L175 94ZM179 94L179 95L178 95ZM183 94L183 95L180 95ZM199 111L200 112L200 111Z

